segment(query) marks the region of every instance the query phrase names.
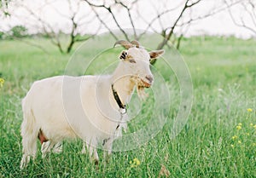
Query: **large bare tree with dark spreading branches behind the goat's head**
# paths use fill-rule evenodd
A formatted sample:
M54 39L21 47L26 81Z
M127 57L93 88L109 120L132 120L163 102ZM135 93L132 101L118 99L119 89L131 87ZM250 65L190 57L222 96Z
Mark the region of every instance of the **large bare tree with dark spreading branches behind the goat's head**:
M153 18L149 18L145 16L143 13L143 7L140 4L141 1L125 1L125 0L110 0L110 1L92 1L92 0L84 0L92 11L96 14L97 19L102 23L102 25L111 33L111 35L117 39L116 35L113 33L112 29L114 24L119 31L124 35L126 40L130 40L127 32L125 32L123 21L126 22L126 26L132 29L132 37L135 39L140 39L143 37L148 31L153 31L158 33L162 36L162 40L157 45L157 49L164 48L168 41L173 40L172 43L176 43L176 47L179 48L180 42L186 32L189 31L189 27L192 23L198 20L203 20L209 16L214 14L218 14L229 8L230 6L239 2L236 0L229 5L224 6L224 4L220 4L218 8L214 7L212 10L208 11L207 14L201 14L199 16L194 15L192 10L194 7L201 3L207 3L206 0L184 0L179 3L174 3L175 5L172 6L171 1L161 1L163 4L162 8L155 7L155 1L148 0L148 6L151 6L154 9ZM170 3L171 2L171 3ZM148 8L147 6L147 8ZM103 10L102 10L103 9ZM116 9L120 9L119 11L122 12L122 18L118 19L121 15ZM102 13L102 11L104 13ZM125 12L125 13L124 13ZM186 15L185 15L186 14ZM188 15L189 14L189 15ZM126 15L126 16L125 16ZM176 16L176 19L169 20L167 23L164 23L164 19L166 17ZM189 18L188 18L189 16ZM106 17L110 17L112 23L106 22ZM144 31L140 34L137 34L137 20L142 20L144 24ZM157 27L155 27L157 26ZM176 30L177 29L177 30ZM154 60L152 60L154 63Z

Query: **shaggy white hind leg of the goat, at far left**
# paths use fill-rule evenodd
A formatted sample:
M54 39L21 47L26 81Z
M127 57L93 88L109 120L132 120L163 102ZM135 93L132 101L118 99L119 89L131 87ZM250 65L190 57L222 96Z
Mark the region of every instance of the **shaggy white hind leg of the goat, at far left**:
M36 157L38 137L36 120L33 115L31 105L29 105L26 98L22 100L22 111L23 122L21 123L21 136L23 156L20 162L20 169L26 167L26 164L29 163L31 156L32 158Z

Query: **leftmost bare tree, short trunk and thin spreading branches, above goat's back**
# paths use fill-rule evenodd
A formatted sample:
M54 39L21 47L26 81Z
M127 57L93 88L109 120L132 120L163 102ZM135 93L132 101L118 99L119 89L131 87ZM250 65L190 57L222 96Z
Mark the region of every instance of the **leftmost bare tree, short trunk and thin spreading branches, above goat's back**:
M86 36L81 35L82 26L90 24L90 22L94 20L94 16L89 15L90 12L81 15L81 11L83 10L81 9L81 3L84 3L83 1L67 0L67 12L61 12L53 3L53 1L44 1L44 4L40 9L32 9L32 7L28 6L28 3L24 3L23 1L16 3L16 6L26 12L24 17L26 20L25 25L32 27L33 29L38 29L38 32L49 37L51 43L59 49L61 54L70 53L75 43L86 41L90 37L96 35L99 31L100 28L98 27L94 34L87 34ZM58 14L62 19L65 19L63 21L65 21L66 24L69 24L69 26L66 29L57 29L54 24L49 23L49 20L40 15L40 11L44 11L44 9L47 8L53 9L55 14ZM90 16L90 18L87 18L87 16ZM21 19L20 14L16 14L15 17L19 20ZM63 34L66 34L69 38L67 43L61 40Z

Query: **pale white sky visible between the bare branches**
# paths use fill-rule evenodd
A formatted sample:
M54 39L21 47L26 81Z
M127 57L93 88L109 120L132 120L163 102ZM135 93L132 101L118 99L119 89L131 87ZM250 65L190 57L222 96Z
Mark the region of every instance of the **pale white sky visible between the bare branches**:
M88 4L83 2L78 5L78 3L75 3L76 1L77 0L71 1L72 3L69 5L67 0L16 0L15 3L9 5L9 12L12 14L11 17L3 18L3 15L0 15L0 30L8 31L11 26L22 25L26 26L29 32L38 32L38 29L42 26L40 26L38 20L33 18L33 15L26 10L30 9L33 14L36 14L40 19L46 21L55 32L71 31L71 22L68 18L73 12L78 12L76 20L79 22L80 26L79 33L94 33L96 31L101 33L108 31L104 26L100 26L99 20L97 20ZM91 2L102 3L100 0ZM111 0L106 0L106 2L107 5L112 3ZM126 0L124 2L129 1ZM152 24L153 29L150 31L154 30L160 32L161 26L171 26L174 20L177 19L177 15L183 8L183 2L184 1L176 0L140 0L132 7L131 14L134 24L138 29L145 29L148 26L145 21L151 21L158 13L160 14L167 9L173 9L170 13L163 15L160 20L155 20ZM189 20L190 16L197 18L209 14L209 12L222 9L224 6L223 0L203 0L201 3L198 3L192 11L187 11L181 21ZM26 7L26 9L23 7ZM113 23L113 19L108 15L105 9L96 9L96 12L101 15L102 20L108 24L111 29L117 28ZM125 10L122 10L119 6L115 6L113 12L117 14L116 18L122 27L131 28L131 23ZM243 12L241 7L234 6L232 8L232 14L234 14L237 20L240 20L240 17L244 17L244 19L247 20L246 22L251 25L250 19L247 18L247 14ZM177 27L177 33L183 31L186 31L186 28ZM196 20L189 26L189 30L185 33L185 36L202 34L217 36L233 35L241 38L253 37L254 35L255 37L253 32L236 26L231 20L227 10L203 20Z

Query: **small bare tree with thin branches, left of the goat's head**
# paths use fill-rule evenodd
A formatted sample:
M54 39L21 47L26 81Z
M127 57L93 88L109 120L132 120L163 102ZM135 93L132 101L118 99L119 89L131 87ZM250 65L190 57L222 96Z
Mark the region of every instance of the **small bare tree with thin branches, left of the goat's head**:
M58 3L65 5L65 12L58 9ZM32 33L42 33L44 37L49 37L61 53L70 53L75 43L83 42L93 37L94 34L86 34L86 25L94 19L90 12L83 9L83 1L80 0L65 0L65 1L41 1L38 7L35 8L29 0L16 1L13 4L12 16L20 20L28 29L32 29ZM33 4L32 6L30 4ZM15 13L15 11L17 12ZM20 15L22 12L23 15ZM61 19L61 24L58 21L50 20L51 15L58 16ZM63 28L63 26L65 26ZM65 41L63 38L68 37Z

